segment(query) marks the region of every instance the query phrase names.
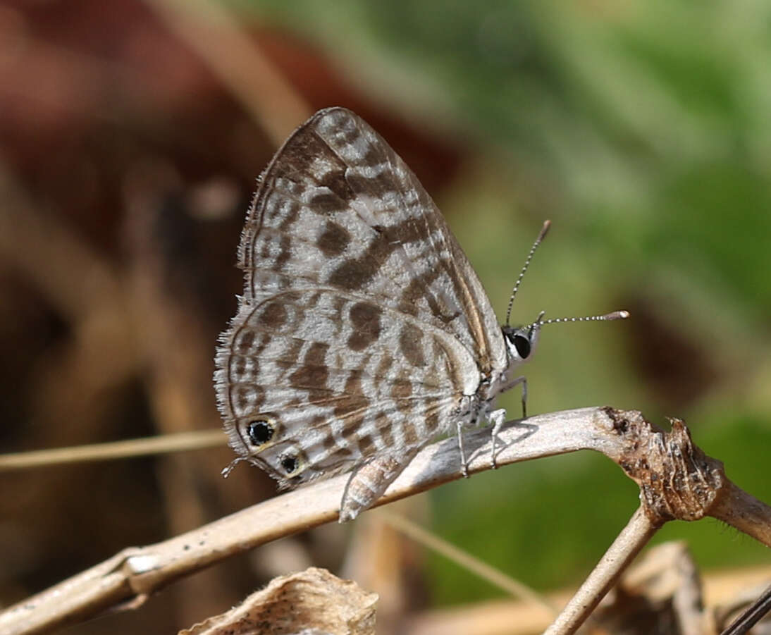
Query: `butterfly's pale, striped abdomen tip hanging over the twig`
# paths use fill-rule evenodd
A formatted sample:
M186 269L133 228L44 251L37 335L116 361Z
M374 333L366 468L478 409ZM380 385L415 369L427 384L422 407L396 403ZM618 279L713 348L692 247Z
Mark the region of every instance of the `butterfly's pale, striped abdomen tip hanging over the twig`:
M399 458L391 455L379 456L355 470L342 495L340 522L353 520L360 512L372 506L417 453L418 449L414 449Z

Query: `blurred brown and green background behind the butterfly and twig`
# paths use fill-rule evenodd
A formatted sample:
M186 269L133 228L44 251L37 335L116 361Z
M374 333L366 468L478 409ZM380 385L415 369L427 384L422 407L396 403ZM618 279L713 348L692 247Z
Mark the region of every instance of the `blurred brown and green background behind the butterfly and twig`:
M546 218L515 321L632 312L544 332L531 412L681 416L729 476L771 499L771 79L759 62L771 46L754 26L768 10L558 4L214 5L227 22L172 0L0 4L0 451L220 425L212 357L241 291L254 180L305 116L342 105L418 174L500 314ZM0 473L0 603L272 496L259 470L221 479L232 458L222 447ZM406 509L552 588L581 580L635 496L614 465L571 456ZM362 521L77 630L173 632L310 564L381 593L394 623L497 595ZM665 537L689 539L707 568L771 563L709 521Z

